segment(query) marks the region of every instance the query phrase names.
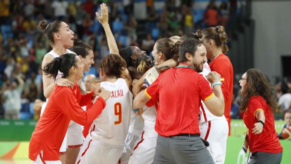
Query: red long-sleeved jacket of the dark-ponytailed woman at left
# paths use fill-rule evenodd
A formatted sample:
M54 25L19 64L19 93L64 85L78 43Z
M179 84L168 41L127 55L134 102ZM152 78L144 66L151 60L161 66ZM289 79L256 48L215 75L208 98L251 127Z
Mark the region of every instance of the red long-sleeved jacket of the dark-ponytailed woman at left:
M69 121L73 120L81 125L90 124L105 108L105 101L101 97L87 111L80 107L92 100L92 94L93 92L82 95L78 85L74 88L54 87L45 112L31 135L29 159L37 159L43 151L44 160L59 160L59 149Z

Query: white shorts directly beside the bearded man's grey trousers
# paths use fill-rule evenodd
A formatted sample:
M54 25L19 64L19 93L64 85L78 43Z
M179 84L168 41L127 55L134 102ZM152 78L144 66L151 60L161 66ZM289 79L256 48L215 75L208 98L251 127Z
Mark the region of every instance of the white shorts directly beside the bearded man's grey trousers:
M157 137L141 139L132 155L129 158L128 164L148 164L153 163L157 146Z

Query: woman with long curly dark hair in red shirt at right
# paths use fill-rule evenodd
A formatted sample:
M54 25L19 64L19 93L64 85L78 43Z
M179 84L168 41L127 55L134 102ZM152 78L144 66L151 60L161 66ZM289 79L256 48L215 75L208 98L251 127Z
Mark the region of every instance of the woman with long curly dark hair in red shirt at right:
M249 163L280 163L282 147L275 130L273 112L278 109L276 96L267 77L257 69L241 77L240 110L248 128Z

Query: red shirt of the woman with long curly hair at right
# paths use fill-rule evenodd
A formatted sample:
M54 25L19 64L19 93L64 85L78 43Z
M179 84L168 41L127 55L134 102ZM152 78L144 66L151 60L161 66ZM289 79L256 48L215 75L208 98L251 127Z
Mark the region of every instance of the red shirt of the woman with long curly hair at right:
M253 124L258 122L255 114L256 111L263 110L265 113L265 125L263 132L255 135L252 132ZM248 141L250 152L267 152L279 153L283 151L280 145L279 138L275 130L274 115L270 106L266 103L262 96L252 96L249 99L247 109L243 115L243 121L248 128Z

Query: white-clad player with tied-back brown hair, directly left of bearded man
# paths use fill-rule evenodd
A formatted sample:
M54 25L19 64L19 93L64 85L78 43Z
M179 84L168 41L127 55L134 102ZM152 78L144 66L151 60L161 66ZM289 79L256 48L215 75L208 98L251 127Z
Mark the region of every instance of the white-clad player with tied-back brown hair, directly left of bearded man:
M156 63L164 63L178 53L178 44L171 39L159 39L153 49L153 56ZM149 104L148 104L149 105ZM152 163L157 145L157 132L155 123L157 117L157 104L153 103L143 107L142 117L144 118L143 133L141 140L135 145L128 163Z

